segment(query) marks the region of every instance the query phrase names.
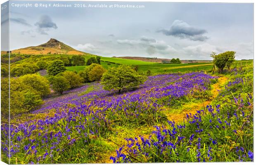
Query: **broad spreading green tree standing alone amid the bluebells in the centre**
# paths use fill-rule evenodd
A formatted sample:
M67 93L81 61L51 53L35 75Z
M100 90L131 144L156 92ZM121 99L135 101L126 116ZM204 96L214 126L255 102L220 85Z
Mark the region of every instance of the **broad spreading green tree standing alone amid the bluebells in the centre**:
M111 67L102 75L101 83L104 90L118 90L121 93L123 88L137 87L145 82L145 76L137 73L131 66L119 65Z

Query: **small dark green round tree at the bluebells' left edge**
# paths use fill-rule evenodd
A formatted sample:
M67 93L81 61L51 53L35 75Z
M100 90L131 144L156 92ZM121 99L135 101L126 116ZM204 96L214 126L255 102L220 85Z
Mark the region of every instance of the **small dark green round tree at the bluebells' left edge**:
M62 94L65 90L70 88L68 80L63 76L55 76L52 78L52 89Z

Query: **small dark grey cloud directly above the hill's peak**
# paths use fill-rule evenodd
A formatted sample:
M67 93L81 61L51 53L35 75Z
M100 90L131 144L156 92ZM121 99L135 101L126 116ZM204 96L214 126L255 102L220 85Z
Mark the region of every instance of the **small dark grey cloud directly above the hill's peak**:
M50 29L57 29L57 25L52 21L50 16L43 15L40 17L39 21L36 22L35 26L38 27L38 33L47 35L46 31Z

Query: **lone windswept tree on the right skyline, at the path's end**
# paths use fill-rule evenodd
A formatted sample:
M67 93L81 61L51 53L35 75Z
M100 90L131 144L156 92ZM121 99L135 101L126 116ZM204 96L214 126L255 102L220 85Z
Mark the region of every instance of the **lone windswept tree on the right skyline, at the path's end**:
M223 72L225 66L230 69L232 62L235 61L235 53L234 51L227 51L218 55L215 52L211 53L213 64L218 67L219 73Z

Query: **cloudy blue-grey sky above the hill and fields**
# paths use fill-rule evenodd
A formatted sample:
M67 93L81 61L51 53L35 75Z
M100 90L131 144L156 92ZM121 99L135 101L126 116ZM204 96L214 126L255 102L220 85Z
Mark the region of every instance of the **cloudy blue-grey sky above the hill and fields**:
M27 3L32 7L17 7ZM39 4L10 2L10 50L55 38L105 57L211 59L212 51L233 50L236 59L253 58L252 4L40 1L51 7L34 7L35 3ZM71 7L53 7L56 3ZM77 3L86 7L74 7ZM116 4L144 7L109 7ZM2 19L1 25L7 22Z

